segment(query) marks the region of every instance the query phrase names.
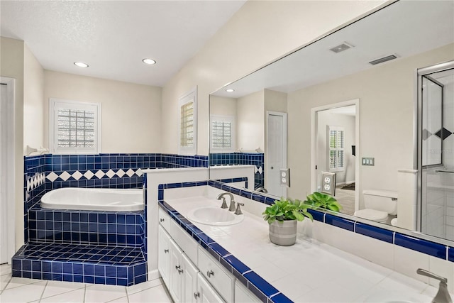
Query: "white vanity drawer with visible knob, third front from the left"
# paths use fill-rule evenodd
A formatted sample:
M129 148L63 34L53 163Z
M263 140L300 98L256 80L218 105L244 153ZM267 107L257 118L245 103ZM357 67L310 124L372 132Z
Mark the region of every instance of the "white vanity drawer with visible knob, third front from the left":
M206 280L214 286L226 302L233 302L233 290L235 277L222 268L218 261L214 260L206 250L199 247L199 259L197 263L199 270Z

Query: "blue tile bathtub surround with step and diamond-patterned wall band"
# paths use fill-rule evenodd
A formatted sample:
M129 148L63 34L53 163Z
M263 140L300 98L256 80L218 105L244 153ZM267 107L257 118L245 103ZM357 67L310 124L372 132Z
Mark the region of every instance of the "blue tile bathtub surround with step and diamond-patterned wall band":
M145 168L208 167L206 156L168 154L24 157L24 236L14 277L134 285L147 279ZM41 209L60 187L141 188L143 211Z

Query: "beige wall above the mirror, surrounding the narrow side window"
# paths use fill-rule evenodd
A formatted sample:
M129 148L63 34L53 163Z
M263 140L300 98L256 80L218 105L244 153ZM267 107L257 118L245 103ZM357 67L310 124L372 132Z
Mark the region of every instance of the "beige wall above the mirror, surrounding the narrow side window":
M178 97L198 86L199 155L209 153L209 94L384 1L247 1L162 89L163 153L178 150Z

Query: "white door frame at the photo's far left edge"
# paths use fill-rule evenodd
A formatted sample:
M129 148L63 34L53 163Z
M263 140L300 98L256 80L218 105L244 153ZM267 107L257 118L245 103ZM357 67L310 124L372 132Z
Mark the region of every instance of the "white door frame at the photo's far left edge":
M2 121L6 122L4 131L2 130L2 136L0 136L0 161L2 164L2 170L0 174L4 180L2 180L1 186L4 186L4 194L2 198L6 201L5 204L0 205L1 214L7 214L6 217L6 233L8 237L7 241L7 252L8 252L8 263L11 264L11 258L16 251L16 184L15 184L15 170L14 165L16 157L14 155L14 106L16 104L15 99L15 85L16 80L10 77L0 77L0 83L6 84L8 99L4 104L6 110L6 119ZM3 102L2 102L3 103ZM0 104L1 106L1 104ZM1 220L1 219L0 219ZM4 226L4 224L2 223ZM2 244L3 245L3 244Z

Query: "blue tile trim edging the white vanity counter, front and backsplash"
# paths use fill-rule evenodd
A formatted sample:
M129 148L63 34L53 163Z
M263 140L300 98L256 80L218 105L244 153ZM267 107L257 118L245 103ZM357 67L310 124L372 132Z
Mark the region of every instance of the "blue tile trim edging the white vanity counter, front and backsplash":
M200 182L183 182L183 183L172 183L172 184L160 184L158 187L158 200L159 205L169 214L173 220L175 220L179 226L181 226L194 240L205 248L211 255L221 263L224 268L231 272L240 282L248 287L262 302L292 302L284 294L280 293L275 287L265 281L260 275L248 268L247 265L242 263L238 258L228 252L225 248L220 246L216 241L207 236L203 231L197 228L191 221L187 220L179 214L178 211L172 208L165 202L164 190L170 188L182 188L182 187L193 187L193 186L204 186L208 184L211 187L222 189L232 194L238 194L241 197L253 199L256 202L264 203L267 205L272 204L275 199L271 197L265 197L262 194L256 194L248 191L247 189L238 189L230 187L228 184L222 182L209 180ZM408 236L397 231L389 231L384 228L377 226L371 226L362 222L345 219L340 216L332 214L326 214L323 211L316 211L310 209L309 212L314 216L314 220L320 221L324 224L343 228L347 231L359 233L363 236L375 238L379 241L394 244L396 246L402 246L411 250L416 250L426 255L431 255L436 258L448 260L454 262L454 247L445 246L440 243L434 243L414 236Z

